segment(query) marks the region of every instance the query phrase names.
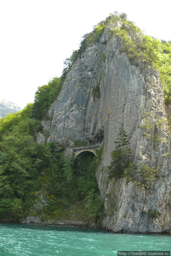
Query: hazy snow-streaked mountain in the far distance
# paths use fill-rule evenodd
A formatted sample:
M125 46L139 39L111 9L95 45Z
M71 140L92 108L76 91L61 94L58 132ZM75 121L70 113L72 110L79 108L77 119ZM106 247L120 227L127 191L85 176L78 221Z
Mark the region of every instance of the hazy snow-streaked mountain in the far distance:
M17 104L7 101L0 100L0 118L5 117L6 114L14 113L19 110L22 110Z

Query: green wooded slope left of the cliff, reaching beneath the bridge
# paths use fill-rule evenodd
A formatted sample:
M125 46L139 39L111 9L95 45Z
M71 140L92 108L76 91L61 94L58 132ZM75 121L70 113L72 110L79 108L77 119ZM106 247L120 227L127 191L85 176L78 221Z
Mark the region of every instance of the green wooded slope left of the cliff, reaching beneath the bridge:
M55 77L38 87L33 104L0 120L1 221L19 222L30 214L41 220L97 221L102 216L92 154L84 157L86 164L79 158L73 163L55 143L36 143L41 118L61 86Z

